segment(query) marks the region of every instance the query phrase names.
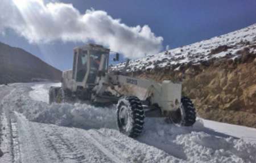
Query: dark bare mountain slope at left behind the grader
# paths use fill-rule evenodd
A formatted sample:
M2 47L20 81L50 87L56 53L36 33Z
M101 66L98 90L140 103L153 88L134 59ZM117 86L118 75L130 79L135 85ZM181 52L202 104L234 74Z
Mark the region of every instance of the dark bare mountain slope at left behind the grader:
M60 70L23 49L0 42L0 84L60 79Z

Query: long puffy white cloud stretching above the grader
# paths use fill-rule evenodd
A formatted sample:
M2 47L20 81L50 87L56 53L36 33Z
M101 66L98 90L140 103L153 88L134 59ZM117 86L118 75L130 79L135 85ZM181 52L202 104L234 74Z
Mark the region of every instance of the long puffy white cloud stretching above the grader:
M42 0L2 0L0 11L0 32L14 29L31 43L93 40L130 58L162 49L163 38L156 37L148 25L129 27L105 11L81 14L71 4Z

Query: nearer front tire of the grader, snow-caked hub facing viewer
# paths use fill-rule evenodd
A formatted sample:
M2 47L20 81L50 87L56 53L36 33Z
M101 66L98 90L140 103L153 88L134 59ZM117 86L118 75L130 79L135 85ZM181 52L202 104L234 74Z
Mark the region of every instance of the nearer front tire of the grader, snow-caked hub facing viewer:
M144 110L138 97L121 97L117 104L117 123L119 131L136 138L142 133Z

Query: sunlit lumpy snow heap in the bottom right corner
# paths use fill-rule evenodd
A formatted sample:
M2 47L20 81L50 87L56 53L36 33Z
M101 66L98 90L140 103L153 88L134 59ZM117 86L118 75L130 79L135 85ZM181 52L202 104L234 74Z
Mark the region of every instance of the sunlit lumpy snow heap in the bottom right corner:
M242 139L221 138L205 132L178 135L175 142L183 147L189 161L195 162L253 162L256 145ZM193 150L191 150L193 149Z

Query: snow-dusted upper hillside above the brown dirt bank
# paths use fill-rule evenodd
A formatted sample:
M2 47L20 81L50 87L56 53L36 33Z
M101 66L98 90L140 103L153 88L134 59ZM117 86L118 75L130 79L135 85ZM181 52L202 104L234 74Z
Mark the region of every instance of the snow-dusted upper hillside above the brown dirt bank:
M256 24L226 35L131 61L127 71L151 70L168 66L175 66L178 70L179 65L183 63L195 65L213 58L235 59L241 56L242 49L246 47L250 53L256 53ZM125 63L120 63L112 68L121 70L124 66Z

